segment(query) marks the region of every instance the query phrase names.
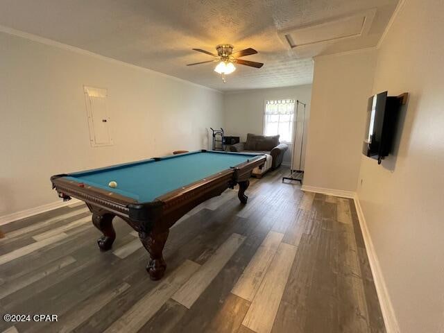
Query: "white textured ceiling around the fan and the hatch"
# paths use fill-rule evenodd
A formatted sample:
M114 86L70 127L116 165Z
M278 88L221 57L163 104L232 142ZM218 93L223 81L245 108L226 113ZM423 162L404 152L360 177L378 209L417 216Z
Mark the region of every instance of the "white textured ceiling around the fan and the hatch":
M311 83L311 58L298 58L278 30L377 8L366 37L343 40L321 54L375 46L398 0L0 0L0 24L160 71L219 90L283 87ZM234 51L253 47L227 83L214 62L191 48L215 52L221 43Z

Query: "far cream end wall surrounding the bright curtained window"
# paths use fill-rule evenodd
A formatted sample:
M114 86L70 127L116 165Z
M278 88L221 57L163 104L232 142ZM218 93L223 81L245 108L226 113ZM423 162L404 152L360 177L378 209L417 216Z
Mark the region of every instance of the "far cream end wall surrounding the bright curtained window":
M227 135L240 136L246 140L247 133L264 133L265 101L271 99L298 99L307 103L306 123L310 117L311 85L298 85L273 89L251 89L225 93L224 123ZM305 142L306 142L305 137ZM305 148L305 145L304 145ZM284 162L291 159L291 146L284 156Z

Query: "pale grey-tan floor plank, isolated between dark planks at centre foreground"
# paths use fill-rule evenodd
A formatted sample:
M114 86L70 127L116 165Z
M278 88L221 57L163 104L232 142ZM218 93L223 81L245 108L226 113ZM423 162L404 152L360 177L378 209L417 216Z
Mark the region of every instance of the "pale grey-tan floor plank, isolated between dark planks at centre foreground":
M200 294L208 287L221 268L241 246L245 237L232 234L224 244L208 259L205 264L173 295L173 300L188 309L194 304Z

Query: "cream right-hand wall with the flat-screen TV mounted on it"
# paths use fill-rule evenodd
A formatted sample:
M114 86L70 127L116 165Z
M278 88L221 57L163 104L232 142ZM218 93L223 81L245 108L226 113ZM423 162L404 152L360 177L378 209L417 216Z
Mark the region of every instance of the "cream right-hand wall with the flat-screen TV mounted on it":
M409 92L395 155L362 157L358 195L400 332L444 332L444 2L407 0L373 93Z

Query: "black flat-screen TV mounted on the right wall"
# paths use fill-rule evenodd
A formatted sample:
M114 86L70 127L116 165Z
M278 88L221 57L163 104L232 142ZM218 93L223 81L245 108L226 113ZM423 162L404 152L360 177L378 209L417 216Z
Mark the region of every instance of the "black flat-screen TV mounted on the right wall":
M366 135L362 153L381 164L391 153L402 100L381 92L368 99Z

